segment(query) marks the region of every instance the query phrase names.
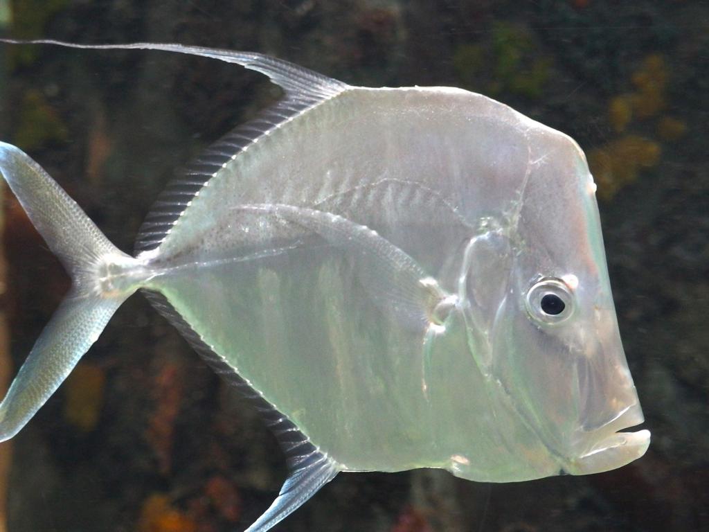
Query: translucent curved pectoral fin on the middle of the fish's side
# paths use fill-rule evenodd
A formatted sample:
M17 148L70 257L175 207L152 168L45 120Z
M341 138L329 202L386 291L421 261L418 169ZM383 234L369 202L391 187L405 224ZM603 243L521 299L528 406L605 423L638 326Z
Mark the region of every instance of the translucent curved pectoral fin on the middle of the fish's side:
M234 210L277 216L316 233L334 248L352 252L369 297L407 328L426 331L440 323L442 311L450 309L452 297L438 282L405 251L367 226L337 214L284 204L245 204Z

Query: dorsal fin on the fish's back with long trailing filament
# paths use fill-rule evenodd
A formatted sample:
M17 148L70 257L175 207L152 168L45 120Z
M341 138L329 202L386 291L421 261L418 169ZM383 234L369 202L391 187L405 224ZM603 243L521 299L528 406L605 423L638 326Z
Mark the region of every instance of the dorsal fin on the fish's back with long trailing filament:
M135 239L135 253L157 248L167 237L177 219L182 216L190 201L209 181L225 162L233 159L261 135L278 128L321 102L337 96L349 85L332 79L294 63L256 52L235 52L201 46L184 46L169 43L128 43L117 45L85 45L65 43L60 40L11 40L0 39L2 43L50 44L69 48L99 50L162 50L188 55L210 57L229 63L242 65L250 70L266 74L271 81L281 87L286 97L257 118L225 135L207 148L199 157L186 165L184 172L170 182L157 197L152 209L140 226Z

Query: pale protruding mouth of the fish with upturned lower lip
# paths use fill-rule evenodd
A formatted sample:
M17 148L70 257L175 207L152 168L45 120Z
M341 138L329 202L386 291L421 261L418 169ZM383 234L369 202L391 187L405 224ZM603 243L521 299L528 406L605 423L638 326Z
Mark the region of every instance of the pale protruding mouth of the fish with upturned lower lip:
M650 445L650 431L621 432L644 421L639 404L629 406L607 426L593 431L594 443L590 450L569 460L567 470L571 475L589 475L623 467L637 460ZM598 438L598 439L596 439Z

